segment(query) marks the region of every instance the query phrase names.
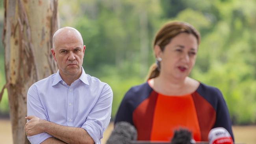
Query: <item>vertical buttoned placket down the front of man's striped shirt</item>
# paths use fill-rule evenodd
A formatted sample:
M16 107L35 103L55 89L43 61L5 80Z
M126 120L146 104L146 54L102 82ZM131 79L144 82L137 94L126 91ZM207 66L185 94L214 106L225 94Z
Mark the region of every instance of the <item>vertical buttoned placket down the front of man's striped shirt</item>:
M74 89L69 87L68 92L68 101L67 101L67 125L73 126L73 98L74 98Z

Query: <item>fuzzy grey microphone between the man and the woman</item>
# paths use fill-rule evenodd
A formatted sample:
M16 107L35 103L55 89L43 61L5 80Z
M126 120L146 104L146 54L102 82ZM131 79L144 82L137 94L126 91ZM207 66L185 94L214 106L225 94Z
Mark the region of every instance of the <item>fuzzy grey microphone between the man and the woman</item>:
M128 122L117 122L106 144L130 144L137 140L137 130Z

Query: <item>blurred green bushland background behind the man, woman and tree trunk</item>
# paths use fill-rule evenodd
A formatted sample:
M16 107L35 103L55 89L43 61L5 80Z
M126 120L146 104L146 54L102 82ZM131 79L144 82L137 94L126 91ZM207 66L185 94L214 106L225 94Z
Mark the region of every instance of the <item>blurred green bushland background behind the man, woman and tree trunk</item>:
M145 82L148 68L155 61L152 40L156 31L165 22L180 20L195 26L202 38L190 76L221 90L233 125L238 127L234 131L245 138L252 135L252 144L256 143L255 7L255 0L58 1L61 27L74 27L83 36L85 72L113 90L112 118L125 92ZM1 34L3 18L0 0ZM5 82L4 48L0 42L0 88ZM11 137L5 136L11 129L8 113L5 90L0 103L3 139Z

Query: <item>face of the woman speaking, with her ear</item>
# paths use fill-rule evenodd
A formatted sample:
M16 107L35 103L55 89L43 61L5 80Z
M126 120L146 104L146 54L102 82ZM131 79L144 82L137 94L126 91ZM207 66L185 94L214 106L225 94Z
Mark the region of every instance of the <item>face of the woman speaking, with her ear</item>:
M154 51L162 59L160 75L184 79L191 72L197 57L197 38L193 34L180 33L161 51L155 46Z

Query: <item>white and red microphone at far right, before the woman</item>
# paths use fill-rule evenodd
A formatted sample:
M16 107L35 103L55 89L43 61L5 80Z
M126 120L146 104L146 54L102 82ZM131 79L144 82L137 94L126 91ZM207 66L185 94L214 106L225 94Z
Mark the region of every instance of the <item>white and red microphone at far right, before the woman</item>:
M223 127L211 129L208 135L209 144L233 144L232 137Z

